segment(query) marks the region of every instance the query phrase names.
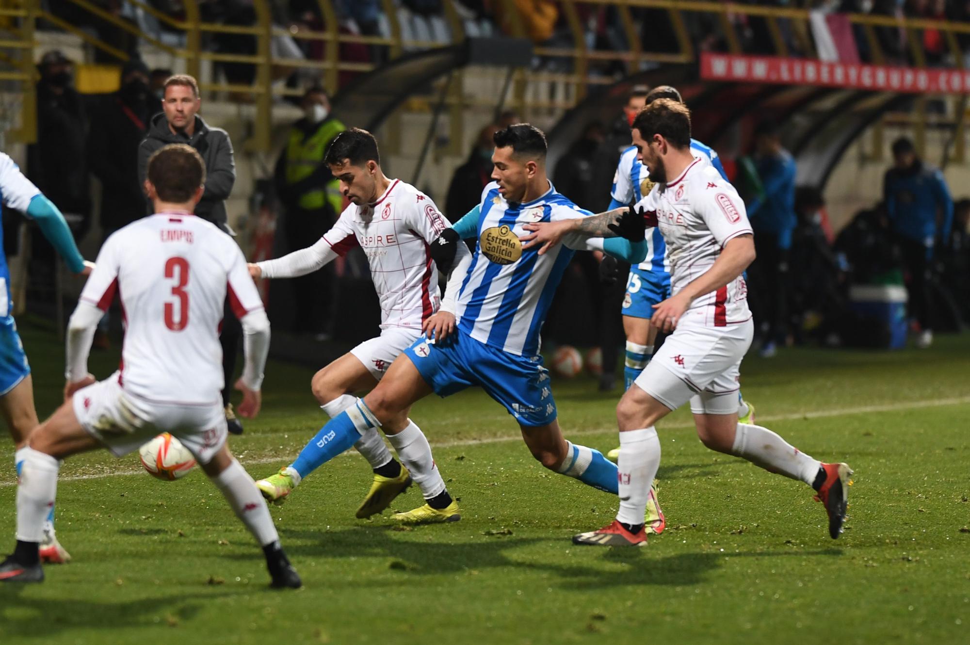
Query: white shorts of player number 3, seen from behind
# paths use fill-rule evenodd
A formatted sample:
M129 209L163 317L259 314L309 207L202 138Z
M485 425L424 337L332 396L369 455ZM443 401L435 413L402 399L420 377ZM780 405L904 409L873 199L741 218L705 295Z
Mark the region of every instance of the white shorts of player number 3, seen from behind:
M226 442L226 413L219 403L155 403L118 384L117 372L74 394L74 413L89 435L116 457L142 447L155 435L178 437L199 464L208 464Z

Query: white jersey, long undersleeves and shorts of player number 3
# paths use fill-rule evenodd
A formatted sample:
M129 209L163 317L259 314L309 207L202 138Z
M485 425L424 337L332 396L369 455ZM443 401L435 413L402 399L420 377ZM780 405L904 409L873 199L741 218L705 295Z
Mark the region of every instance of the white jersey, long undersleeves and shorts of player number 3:
M150 215L115 232L71 316L69 381L87 373L94 327L115 293L125 321L121 365L74 395L78 420L115 455L170 432L208 463L226 439L218 334L227 294L245 331L250 389L262 384L269 348L269 321L240 247L188 213Z

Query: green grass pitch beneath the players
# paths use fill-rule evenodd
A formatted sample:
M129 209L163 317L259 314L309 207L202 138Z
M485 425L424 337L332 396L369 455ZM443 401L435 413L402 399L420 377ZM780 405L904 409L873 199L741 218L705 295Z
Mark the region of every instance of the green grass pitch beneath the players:
M63 346L43 326L21 333L44 417ZM92 368L104 377L116 360L95 354ZM271 364L263 414L231 438L257 478L324 420L310 374ZM541 468L504 410L469 391L412 412L462 521L356 520L370 471L340 457L273 507L298 592L266 587L259 550L198 469L167 483L137 456L68 462L57 528L75 560L47 567L43 585L0 587L0 643L970 642L970 336L926 351L792 349L743 374L761 424L856 469L840 539L807 487L707 451L680 411L660 425L667 531L643 549L575 547L617 500ZM614 446L618 395L586 378L555 394L567 437ZM0 442L3 550L12 456ZM393 508L419 503L412 489Z

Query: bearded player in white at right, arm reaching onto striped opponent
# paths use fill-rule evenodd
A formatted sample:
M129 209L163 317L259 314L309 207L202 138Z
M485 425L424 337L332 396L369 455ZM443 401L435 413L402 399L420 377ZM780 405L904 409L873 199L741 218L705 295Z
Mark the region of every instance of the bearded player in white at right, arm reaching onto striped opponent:
M823 464L775 433L738 423L741 359L751 345L754 322L742 273L755 258L755 241L744 203L727 181L691 153L691 113L670 99L652 102L636 115L633 145L655 184L641 200L648 226L660 226L671 266L673 295L654 306L651 324L673 333L617 406L620 426L619 498L616 520L573 537L576 544L642 546L644 512L661 460L655 424L691 403L697 435L712 450L742 457L771 472L812 486L828 513L828 532L839 536L845 519L849 475L845 464ZM598 217L554 225L542 239L606 234Z

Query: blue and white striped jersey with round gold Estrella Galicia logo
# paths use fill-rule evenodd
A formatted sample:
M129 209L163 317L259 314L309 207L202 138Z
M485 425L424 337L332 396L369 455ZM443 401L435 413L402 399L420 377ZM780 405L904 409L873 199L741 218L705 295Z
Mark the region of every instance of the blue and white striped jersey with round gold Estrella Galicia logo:
M459 328L471 338L518 356L539 353L539 331L573 249L601 249L602 238L557 244L543 255L523 249L530 222L592 214L549 190L532 202L506 202L496 182L482 191L478 242L458 294Z

